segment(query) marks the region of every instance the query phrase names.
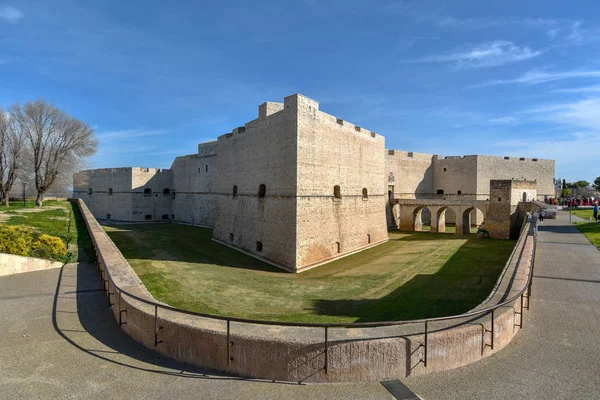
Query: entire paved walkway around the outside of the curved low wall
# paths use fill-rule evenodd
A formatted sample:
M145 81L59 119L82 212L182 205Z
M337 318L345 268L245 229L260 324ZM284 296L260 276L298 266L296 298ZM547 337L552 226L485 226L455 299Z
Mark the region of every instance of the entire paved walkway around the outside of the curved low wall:
M405 382L424 399L597 399L600 252L568 215L540 227L525 329L483 361ZM124 335L95 266L0 278L0 398L389 399L379 383L296 385L205 374Z

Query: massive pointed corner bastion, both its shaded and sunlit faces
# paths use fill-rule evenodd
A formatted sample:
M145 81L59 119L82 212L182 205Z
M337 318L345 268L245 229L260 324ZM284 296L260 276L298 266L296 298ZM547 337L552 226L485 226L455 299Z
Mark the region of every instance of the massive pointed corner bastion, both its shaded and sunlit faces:
M300 272L387 240L384 138L295 94L218 139L216 241Z

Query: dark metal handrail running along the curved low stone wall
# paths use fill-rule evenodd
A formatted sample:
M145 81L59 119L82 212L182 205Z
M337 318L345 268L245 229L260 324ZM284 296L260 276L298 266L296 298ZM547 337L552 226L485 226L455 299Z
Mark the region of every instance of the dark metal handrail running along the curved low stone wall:
M88 223L87 218L85 219L85 221L86 221L86 225L88 225L88 228L89 228L89 223ZM118 285L116 285L109 270L106 267L104 269L100 269L100 272L101 273L104 272L107 277L106 280L104 280L104 278L102 278L102 280L106 284L104 291L107 293L109 306L114 305L114 303L110 302L110 296L114 295L114 294L119 295L119 322L120 322L120 324L123 324L121 322L121 314L122 314L122 312L126 312L126 310L121 310L121 307L120 307L120 302L121 302L121 298L123 295L126 295L134 300L137 300L141 303L148 304L148 305L154 307L155 347L158 346L158 344L162 343L162 341L158 340L158 331L160 329L162 329L162 327L157 327L158 309L159 308L168 310L168 311L173 311L176 313L201 317L201 318L225 321L227 323L227 343L228 343L228 345L227 345L227 363L228 363L228 365L229 365L230 361L232 361L232 358L230 357L231 322L248 323L248 324L256 324L256 325L270 325L270 326L324 328L325 329L325 367L324 367L324 370L325 370L325 373L327 373L328 342L329 342L328 329L329 328L350 328L351 329L351 328L375 328L375 327L383 327L383 326L400 326L400 325L410 325L410 324L425 324L425 331L424 331L425 337L424 337L424 344L423 344L424 359L422 359L420 361L423 362L423 365L425 367L427 367L427 353L428 353L427 352L427 350L428 350L427 349L427 344L428 344L427 339L428 339L428 333L429 333L429 323L431 323L431 322L451 321L451 320L462 319L462 318L483 316L487 313L491 313L491 330L490 330L491 331L491 345L490 345L490 347L493 350L494 349L494 311L498 308L507 307L509 304L511 304L512 302L517 300L519 297L521 297L521 311L519 313L520 314L519 327L520 328L523 327L523 309L529 309L529 299L531 296L531 284L532 284L533 269L534 269L534 263L535 263L535 254L536 254L536 248L537 248L537 220L534 220L532 222L526 222L524 224L523 228L521 229L521 233L519 235L520 236L519 240L517 241L517 244L515 245L515 249L513 250L509 260L507 261L508 264L512 263L513 258L516 254L516 247L521 242L521 239L525 239L527 237L527 235L529 235L528 231L531 229L532 226L533 226L532 259L531 259L531 265L529 268L529 273L527 275L527 281L526 281L525 285L523 286L523 288L517 294L515 294L514 296L510 297L507 300L504 300L501 303L498 303L498 304L495 304L492 306L488 306L485 308L481 308L478 310L469 311L467 313L460 314L460 315L451 315L451 316L445 316L445 317L423 318L423 319L413 319L413 320L403 320L403 321L354 322L354 323L302 323L302 322L283 322L283 321L254 320L254 319L247 319L247 318L227 317L227 316L221 316L221 315L205 314L205 313L199 313L199 312L195 312L195 311L183 310L180 308L171 307L166 304L161 304L156 301L145 299L143 297L140 297L138 295L130 293L124 289L121 289ZM95 241L94 241L94 245L97 248L97 244L95 243ZM521 254L524 251L524 249L525 249L525 242L523 242ZM98 263L98 264L100 267L100 263ZM518 268L518 267L519 267L518 265L515 266L515 268ZM112 286L116 290L116 293L110 292L110 285L108 284L109 282L112 284ZM526 295L525 295L525 292L527 292ZM527 298L527 304L524 304L525 297ZM517 313L516 310L515 310L515 313Z

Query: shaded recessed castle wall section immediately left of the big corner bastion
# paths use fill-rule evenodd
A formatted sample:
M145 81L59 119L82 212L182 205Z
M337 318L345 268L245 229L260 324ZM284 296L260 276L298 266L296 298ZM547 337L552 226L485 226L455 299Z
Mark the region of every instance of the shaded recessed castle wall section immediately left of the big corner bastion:
M202 143L198 154L177 157L171 166L172 218L177 222L214 226L217 208L216 141Z

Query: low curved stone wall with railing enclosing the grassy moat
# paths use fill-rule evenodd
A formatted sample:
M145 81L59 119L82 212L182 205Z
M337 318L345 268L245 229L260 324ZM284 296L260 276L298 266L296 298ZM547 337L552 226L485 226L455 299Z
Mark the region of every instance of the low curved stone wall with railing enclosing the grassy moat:
M84 202L76 201L94 242L103 278L108 279L108 270L114 282L106 284L107 292L121 329L149 349L201 368L293 382L404 378L478 361L501 350L519 331L520 298L495 310L493 333L491 313L481 318L429 322L427 347L424 323L329 328L327 351L324 328L231 322L228 335L226 321L156 307L121 294L115 285L156 302ZM525 234L515 249L514 273L510 276L517 292L526 282L533 254L533 232Z

